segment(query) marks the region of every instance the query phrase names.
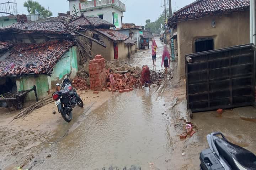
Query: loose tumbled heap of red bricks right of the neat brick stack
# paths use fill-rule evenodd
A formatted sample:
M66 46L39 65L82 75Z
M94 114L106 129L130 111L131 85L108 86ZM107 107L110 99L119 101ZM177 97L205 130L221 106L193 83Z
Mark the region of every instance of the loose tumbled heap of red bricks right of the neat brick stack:
M106 71L106 76L110 77L109 69ZM114 91L119 91L120 93L133 90L133 86L139 83L139 79L134 78L130 73L114 73L113 77L115 80ZM108 88L108 91L111 91L110 82L107 83L106 87Z

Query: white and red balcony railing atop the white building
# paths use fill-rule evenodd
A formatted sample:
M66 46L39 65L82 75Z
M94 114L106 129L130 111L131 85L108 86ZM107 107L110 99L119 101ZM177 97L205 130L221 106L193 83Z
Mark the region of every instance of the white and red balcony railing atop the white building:
M93 8L112 6L112 5L120 8L122 11L126 11L125 4L119 0L91 0L87 2L81 2L80 10L85 11Z

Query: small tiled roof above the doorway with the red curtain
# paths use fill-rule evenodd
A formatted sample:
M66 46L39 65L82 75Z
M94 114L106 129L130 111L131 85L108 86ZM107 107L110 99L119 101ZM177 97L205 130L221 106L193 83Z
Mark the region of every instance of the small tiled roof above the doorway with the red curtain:
M124 41L129 38L128 36L122 33L119 33L118 31L115 31L113 29L95 29L95 30L114 42Z

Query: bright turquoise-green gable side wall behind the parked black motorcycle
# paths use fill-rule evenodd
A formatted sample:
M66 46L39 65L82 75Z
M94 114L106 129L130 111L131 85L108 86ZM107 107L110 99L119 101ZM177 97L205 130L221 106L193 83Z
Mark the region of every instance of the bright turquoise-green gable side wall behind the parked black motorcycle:
M65 75L72 70L71 79L76 76L78 71L78 61L76 55L76 46L73 46L69 51L65 52L59 62L53 68L51 77L52 87L55 87L56 83L61 83L61 80L65 78Z

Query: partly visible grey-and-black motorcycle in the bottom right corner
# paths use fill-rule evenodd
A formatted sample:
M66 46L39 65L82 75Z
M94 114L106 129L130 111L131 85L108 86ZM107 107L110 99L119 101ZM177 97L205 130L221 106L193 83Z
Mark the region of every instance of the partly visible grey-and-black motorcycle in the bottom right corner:
M222 136L219 138L218 136ZM220 132L207 135L209 148L200 154L201 170L255 170L256 156L229 142Z

